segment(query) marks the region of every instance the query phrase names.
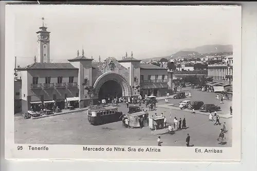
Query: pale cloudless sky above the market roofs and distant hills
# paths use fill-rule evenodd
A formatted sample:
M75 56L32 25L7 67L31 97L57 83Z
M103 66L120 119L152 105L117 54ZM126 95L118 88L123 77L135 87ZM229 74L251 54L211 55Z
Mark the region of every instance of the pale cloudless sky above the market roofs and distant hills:
M17 65L38 54L41 17L50 31L50 60L68 62L77 50L98 60L167 56L208 44L233 45L238 9L225 6L54 6L19 5L15 13ZM241 18L240 18L241 19Z

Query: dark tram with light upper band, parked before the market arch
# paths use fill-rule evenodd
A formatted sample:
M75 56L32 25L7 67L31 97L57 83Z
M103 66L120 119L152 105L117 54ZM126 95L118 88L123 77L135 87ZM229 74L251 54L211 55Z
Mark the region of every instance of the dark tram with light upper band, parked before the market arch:
M93 125L101 125L120 121L121 111L118 107L106 106L87 110L87 119Z

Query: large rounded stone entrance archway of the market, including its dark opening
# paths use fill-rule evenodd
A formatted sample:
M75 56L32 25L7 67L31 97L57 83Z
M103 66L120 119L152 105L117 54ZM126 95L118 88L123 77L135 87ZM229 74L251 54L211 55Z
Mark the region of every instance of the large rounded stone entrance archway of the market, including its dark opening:
M118 97L132 96L132 89L130 84L122 77L122 75L115 72L105 72L97 78L95 84L95 98L105 99L108 95Z

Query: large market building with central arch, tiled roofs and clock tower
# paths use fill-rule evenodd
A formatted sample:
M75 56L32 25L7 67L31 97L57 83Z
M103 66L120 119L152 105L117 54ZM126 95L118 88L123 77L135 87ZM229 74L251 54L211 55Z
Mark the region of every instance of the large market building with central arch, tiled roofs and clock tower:
M39 53L34 63L16 69L21 79L20 98L25 113L41 104L83 108L108 97L138 97L141 94L166 96L172 91L173 72L141 60L109 57L103 63L82 55L79 50L68 63L50 62L50 32L42 26L38 34ZM15 84L16 85L16 84ZM87 88L86 88L87 87ZM88 88L94 90L89 96Z

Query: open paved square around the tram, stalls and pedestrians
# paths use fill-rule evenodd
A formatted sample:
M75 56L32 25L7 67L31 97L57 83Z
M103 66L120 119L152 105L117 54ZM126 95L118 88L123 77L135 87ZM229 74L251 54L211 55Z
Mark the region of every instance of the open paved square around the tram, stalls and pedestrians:
M203 100L205 103L215 101L214 93L195 90L191 90L191 93L192 99L207 98ZM175 103L175 101L171 102L170 100L170 103ZM158 104L164 104L164 101L160 101ZM127 112L125 105L121 105L120 110ZM185 116L189 128L178 130L174 135L156 135L156 132L151 131L149 127L124 128L121 121L94 126L88 123L86 112L83 111L34 120L24 120L21 116L15 116L14 138L15 143L26 144L157 145L157 138L161 136L162 146L185 146L187 134L190 134L190 144L195 146L228 147L232 145L232 118L221 119L221 123L226 122L229 131L228 134L225 134L227 144L220 145L216 139L222 125L214 125L213 122L208 121L208 116L193 115L190 112L179 110L171 111L171 121L170 111L171 109L157 108L156 111L150 111L150 116L155 112L158 115L163 112L168 123L172 123L174 117L182 119Z

